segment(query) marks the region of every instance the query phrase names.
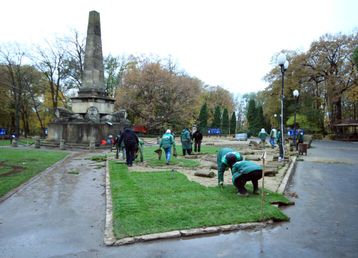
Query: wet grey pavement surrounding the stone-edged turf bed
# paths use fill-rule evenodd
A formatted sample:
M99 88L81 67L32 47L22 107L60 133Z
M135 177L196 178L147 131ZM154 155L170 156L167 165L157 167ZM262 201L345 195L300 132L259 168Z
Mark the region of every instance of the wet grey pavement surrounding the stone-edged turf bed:
M77 176L60 167L0 204L0 257L357 257L357 143L313 142L288 189L298 195L288 223L122 247L102 244L103 174L85 157L67 164Z

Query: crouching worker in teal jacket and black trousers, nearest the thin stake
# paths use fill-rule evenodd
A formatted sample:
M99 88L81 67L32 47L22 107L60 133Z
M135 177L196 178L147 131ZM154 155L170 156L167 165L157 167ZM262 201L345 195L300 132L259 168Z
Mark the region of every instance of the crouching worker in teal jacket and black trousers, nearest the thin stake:
M251 181L253 185L253 194L259 194L258 180L262 177L262 167L255 162L243 160L236 162L231 169L232 183L237 188L237 195L249 196L245 188L247 181Z

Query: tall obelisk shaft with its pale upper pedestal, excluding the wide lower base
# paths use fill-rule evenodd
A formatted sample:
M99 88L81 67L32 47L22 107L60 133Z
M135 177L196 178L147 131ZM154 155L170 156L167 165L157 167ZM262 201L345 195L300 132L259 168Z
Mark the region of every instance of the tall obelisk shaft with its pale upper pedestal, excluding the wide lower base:
M100 115L114 110L114 99L108 96L104 84L101 22L96 11L91 11L88 18L82 86L78 97L72 98L74 113L85 114L88 108L97 109Z

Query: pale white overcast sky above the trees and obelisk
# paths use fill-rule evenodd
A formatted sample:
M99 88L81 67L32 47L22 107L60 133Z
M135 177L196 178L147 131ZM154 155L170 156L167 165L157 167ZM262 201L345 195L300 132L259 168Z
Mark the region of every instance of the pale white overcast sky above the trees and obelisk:
M357 33L358 0L0 0L0 44L32 44L101 16L103 54L171 56L181 70L233 93L263 90L282 49Z

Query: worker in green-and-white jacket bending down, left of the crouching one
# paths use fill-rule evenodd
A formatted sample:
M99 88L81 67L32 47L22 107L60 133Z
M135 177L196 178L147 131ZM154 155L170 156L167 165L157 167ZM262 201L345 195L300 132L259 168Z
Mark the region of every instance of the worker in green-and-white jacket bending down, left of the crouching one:
M242 160L242 156L239 152L231 148L222 148L219 150L217 155L218 165L218 184L219 186L224 185L224 172L227 168L232 169L232 166ZM232 171L231 171L232 172Z

